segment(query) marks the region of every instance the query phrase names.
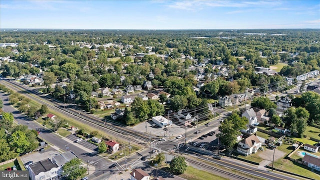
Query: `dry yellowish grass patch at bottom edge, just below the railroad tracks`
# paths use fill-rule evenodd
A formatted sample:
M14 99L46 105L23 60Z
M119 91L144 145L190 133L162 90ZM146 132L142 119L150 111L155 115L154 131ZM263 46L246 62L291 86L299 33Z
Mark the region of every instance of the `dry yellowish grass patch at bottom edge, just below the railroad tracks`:
M187 166L184 173L180 174L179 176L188 180L228 179L218 175L214 175L213 173L209 173L205 170L199 170L190 165Z

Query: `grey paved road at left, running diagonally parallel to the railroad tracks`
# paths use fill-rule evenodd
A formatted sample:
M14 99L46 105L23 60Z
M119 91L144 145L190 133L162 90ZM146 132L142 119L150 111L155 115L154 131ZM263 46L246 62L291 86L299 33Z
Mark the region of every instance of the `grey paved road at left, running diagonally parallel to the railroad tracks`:
M107 170L107 167L111 164L111 162L101 158L100 156L90 153L73 144L75 142L70 143L70 141L64 140L63 138L61 138L61 136L56 135L52 131L45 130L43 126L36 123L35 121L25 120L26 116L24 114L19 113L18 110L8 104L8 96L6 94L0 93L0 98L3 101L3 111L12 112L14 119L19 124L27 125L29 129L43 129L41 130L39 136L42 137L45 141L54 144L61 150L72 150L73 153L77 155L81 160L91 164L94 167L94 172L88 176L90 179L101 175L103 170ZM104 177L108 177L112 174L109 171L105 171L103 175Z

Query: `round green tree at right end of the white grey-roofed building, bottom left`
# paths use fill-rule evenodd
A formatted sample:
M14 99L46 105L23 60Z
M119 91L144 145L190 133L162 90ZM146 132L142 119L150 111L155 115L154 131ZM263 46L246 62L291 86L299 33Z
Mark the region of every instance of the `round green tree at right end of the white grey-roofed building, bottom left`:
M75 180L84 175L86 168L81 165L81 160L73 158L62 166L63 175L67 180Z

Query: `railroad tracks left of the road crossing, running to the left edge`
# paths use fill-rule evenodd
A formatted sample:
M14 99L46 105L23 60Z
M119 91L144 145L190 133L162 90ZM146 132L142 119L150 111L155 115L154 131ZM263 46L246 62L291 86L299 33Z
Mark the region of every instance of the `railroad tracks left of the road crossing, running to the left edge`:
M1 81L3 83L3 80ZM11 83L13 83L14 85L12 85ZM25 90L27 92L30 92L30 93L33 93L35 95L39 95L40 93L35 91L35 90L31 90L31 89L28 89L26 87L24 87L24 85L21 85L17 82L4 82L4 84L6 86L9 86L10 88L16 90L16 91L20 91L21 89L22 90ZM17 88L17 87L19 88ZM66 112L65 115L68 116L68 117L71 117L71 118L75 118L83 123L86 123L94 128L97 128L97 129L100 129L100 130L103 130L103 131L107 131L108 133L110 134L113 134L115 136L118 136L120 138L123 138L125 140L131 140L132 142L136 142L138 144L144 144L144 145L147 145L149 140L150 140L150 136L149 135L146 135L146 134L143 134L141 132L138 132L138 131L134 131L134 130L131 130L131 129L127 129L125 127L120 127L120 126L115 126L114 124L110 123L110 122L104 122L103 119L98 119L97 117L92 117L92 116L89 116L88 114L86 113L82 113L82 112L79 112L79 111L76 111L74 109L71 109L71 108L63 108L63 105L60 105L55 99L51 99L49 97L45 97L47 100L50 101L50 103L47 103L45 101L42 101L42 100L39 100L38 98L30 95L30 94L27 94L25 93L25 95L27 97L29 97L30 99L33 99L39 103L44 103L46 104L48 107L54 109L54 110L57 110L57 111L60 111L60 112ZM41 97L43 98L43 97ZM128 135L130 135L130 138ZM156 137L154 136L151 136L151 140L154 140Z

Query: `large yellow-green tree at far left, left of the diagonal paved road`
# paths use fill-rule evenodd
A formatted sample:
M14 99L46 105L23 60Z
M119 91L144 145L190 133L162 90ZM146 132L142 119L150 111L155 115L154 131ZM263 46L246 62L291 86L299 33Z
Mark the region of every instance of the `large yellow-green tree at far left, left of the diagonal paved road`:
M16 130L11 134L9 143L11 148L14 149L16 153L25 152L28 145L30 144L25 136L25 133L20 130Z

